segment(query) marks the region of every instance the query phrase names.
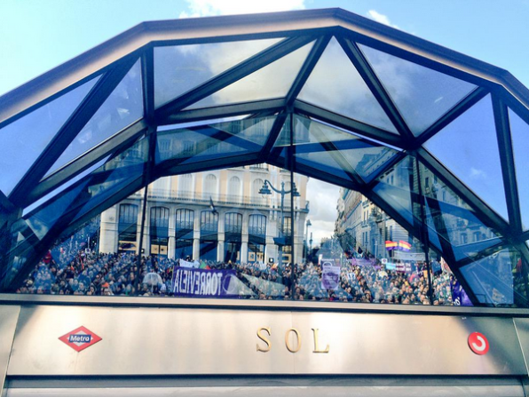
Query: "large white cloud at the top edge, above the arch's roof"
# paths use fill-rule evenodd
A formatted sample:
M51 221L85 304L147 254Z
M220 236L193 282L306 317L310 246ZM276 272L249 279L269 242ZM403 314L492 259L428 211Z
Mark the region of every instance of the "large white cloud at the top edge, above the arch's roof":
M277 12L304 9L304 0L186 0L189 12L182 12L180 18L208 17L257 12Z

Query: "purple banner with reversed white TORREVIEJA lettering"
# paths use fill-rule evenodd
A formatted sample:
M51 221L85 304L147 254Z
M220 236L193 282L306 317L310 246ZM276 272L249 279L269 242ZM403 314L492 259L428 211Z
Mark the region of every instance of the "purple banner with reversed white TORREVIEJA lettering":
M175 267L173 292L177 297L236 297L237 277L234 270Z

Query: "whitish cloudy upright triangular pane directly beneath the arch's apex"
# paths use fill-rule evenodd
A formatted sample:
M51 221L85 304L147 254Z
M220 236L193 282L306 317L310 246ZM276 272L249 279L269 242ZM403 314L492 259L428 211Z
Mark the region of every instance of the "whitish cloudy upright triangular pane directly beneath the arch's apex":
M312 70L298 98L339 115L397 133L334 37Z

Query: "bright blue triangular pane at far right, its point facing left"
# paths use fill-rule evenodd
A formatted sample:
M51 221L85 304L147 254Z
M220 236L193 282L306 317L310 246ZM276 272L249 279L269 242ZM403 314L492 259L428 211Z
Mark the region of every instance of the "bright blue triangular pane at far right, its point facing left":
M501 217L508 218L490 95L424 146Z

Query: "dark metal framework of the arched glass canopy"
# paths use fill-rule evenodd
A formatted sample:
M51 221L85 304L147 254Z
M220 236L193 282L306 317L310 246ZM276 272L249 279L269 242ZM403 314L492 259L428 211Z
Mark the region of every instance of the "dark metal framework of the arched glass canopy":
M163 73L170 73L167 72L170 69L161 68L168 65L163 65L158 51L178 51L182 46L189 45L202 46L199 50L202 51L208 45L265 39L275 39L275 43L241 61L235 61L225 70L197 80L190 89L176 90L178 93L169 101L157 103L157 95L164 90L157 79ZM333 43L338 45L332 47ZM217 100L213 104L204 102L203 106L193 107L193 104L209 99L233 87L233 84L244 83L245 78L253 76L257 79L257 73L267 67L274 67L277 62L307 45L310 51L304 59L298 64L288 64L287 69L296 73L293 81L283 87L282 95L248 100L243 96L233 96L233 99ZM331 47L334 50L330 50ZM408 67L415 67L420 73L427 70L424 72L427 76L428 73L434 74L429 77L432 86L435 86L436 78L442 78L449 79L454 86L472 88L452 99L442 111L436 110L435 106L438 100L445 100L443 96L436 99L435 103L426 100L421 103L421 98L415 99L415 102L413 98L410 99L410 103L416 107L415 113L428 113L433 109L431 111L435 114L435 117L430 117L427 127L415 131L410 123L410 109L403 102L401 92L392 86L373 56L366 52L366 47L382 54L382 59L387 62L407 62ZM387 125L391 124L394 131L389 131L381 123L371 123L369 116L362 115L354 107L350 106L351 113L345 113L339 106L321 105L307 99L304 89L318 78L320 72L317 68L324 64L324 57L331 51L342 52L347 60L347 65L343 66L354 68L359 74L361 82L355 83L356 88L362 90L364 85L367 87L365 95L373 99L373 103L381 109L379 117L387 120ZM224 55L230 58L229 53ZM143 99L143 115L124 128L107 131L103 139L94 139L90 150L69 163L59 164L58 170L47 175L103 104L112 99L138 60L141 71L141 86L138 89ZM181 73L186 72L182 69ZM47 145L42 147L42 152L28 166L16 186L11 191L0 192L0 239L4 249L0 259L0 282L3 290L15 290L28 270L35 266L36 261L61 235L71 233L94 214L162 176L271 163L287 168L291 173L296 171L366 195L425 247L446 258L458 279L470 291L470 298L476 305L490 306L491 302L483 301L475 294L476 284L468 274L462 273L462 267L478 263L481 258L489 258L499 250L516 252L522 260L525 274L525 293L515 292L517 305L529 306L526 278L529 249L525 245L525 241L529 240L529 230L525 230L522 221L522 202L529 200L529 197L522 197L518 188L518 184L523 183L520 180L524 174L516 167L516 142L512 138L513 127L509 120L511 110L522 121L529 123L529 90L505 70L340 9L146 22L0 97L0 134L10 128L16 131L17 123L41 107L52 107L54 100L96 76L99 77L97 83ZM343 78L339 75L333 77ZM185 78L193 78L193 75L186 75ZM272 77L272 80L279 78ZM417 92L420 90L421 87L416 88ZM128 97L125 95L123 98ZM489 98L493 109L493 130L496 133L495 150L499 153L501 163L499 173L502 181L499 189L502 191L500 195L504 195L508 219L466 185L457 172L439 161L435 153L424 147L433 137L442 136L440 134L447 127L464 117L480 101ZM375 111L377 109L373 107ZM231 116L244 116L239 122L242 124L251 125L267 118L273 118L273 123L265 141L257 143L243 133L223 130L222 125L225 123L214 122L218 118ZM114 115L108 117L112 121ZM315 123L320 129L330 128L347 133L351 139L333 141L323 136L317 141L302 142L296 138L295 132L298 128L296 123L300 120L302 124ZM181 125L185 123L205 127ZM162 132L158 130L162 126L164 130L175 133L193 131L215 145L229 144L237 150L235 153L208 155L209 147L197 147L192 154L173 154L169 158L162 158ZM243 130L244 127L241 127ZM286 131L289 131L290 142L281 147L278 139ZM172 132L163 133L170 136ZM23 135L23 139L31 139L30 133ZM6 140L3 144L9 146L12 142ZM347 151L362 152L366 148L391 154L369 175L351 163L346 155ZM446 150L450 150L450 147ZM139 157L138 152L141 153ZM339 172L333 172L332 166L328 164L320 167L318 162L301 160L300 155L310 153L328 155L328 164L334 162ZM193 161L197 157L200 162ZM131 158L135 160L126 160ZM395 171L408 158L415 162L418 186L407 187L407 200L412 210L415 207L420 209L413 214L413 222L387 196L376 190L376 187L383 185L383 177ZM93 169L96 164L98 167ZM12 166L16 167L17 164ZM425 192L423 177L419 172L422 167L438 179L450 194L458 197L459 203L449 205ZM94 194L93 187L96 186L103 193ZM46 211L57 211L58 208L60 213L52 220L48 219L48 215L43 215ZM432 224L429 211L441 214L436 226ZM456 244L451 241L445 215L466 222L480 222L497 238L490 242ZM39 225L47 225L44 231L36 230L36 219ZM437 236L438 242L432 240L433 234ZM461 252L471 254L461 255Z

